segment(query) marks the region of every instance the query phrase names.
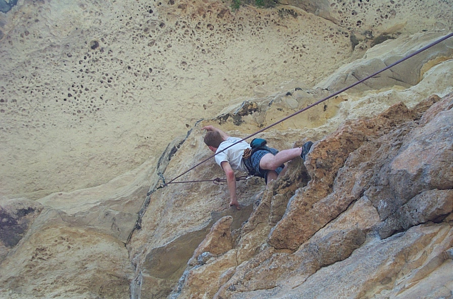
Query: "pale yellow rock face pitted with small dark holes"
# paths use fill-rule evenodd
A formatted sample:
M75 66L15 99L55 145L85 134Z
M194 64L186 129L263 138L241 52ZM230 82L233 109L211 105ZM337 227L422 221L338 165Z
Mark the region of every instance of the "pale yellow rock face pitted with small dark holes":
M211 1L23 1L0 17L9 198L157 163L170 140L232 99L291 80L311 87L352 52L325 19Z

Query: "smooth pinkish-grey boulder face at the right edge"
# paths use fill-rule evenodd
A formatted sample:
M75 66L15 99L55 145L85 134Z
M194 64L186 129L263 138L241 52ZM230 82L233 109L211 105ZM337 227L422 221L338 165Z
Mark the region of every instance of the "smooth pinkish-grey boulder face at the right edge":
M449 107L442 104L445 101L451 102L451 95L445 96L438 104ZM439 113L436 108L439 105L433 108L438 112L437 116L433 116L431 109L426 112L430 115L429 122L422 121L420 126L408 123L409 126L396 130L392 139L387 141L397 146L374 174L374 183L365 192L378 209L381 220L387 219L420 192L451 188L453 166L448 157L453 153L448 128L453 111ZM419 109L416 107L415 111Z

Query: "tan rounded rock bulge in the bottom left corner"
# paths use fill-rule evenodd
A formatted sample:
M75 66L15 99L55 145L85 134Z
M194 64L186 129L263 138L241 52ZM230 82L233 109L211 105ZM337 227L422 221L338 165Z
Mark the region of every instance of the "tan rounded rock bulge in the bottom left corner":
M124 243L108 234L66 225L58 211L43 209L1 264L0 296L74 298L93 293L129 296L132 265Z

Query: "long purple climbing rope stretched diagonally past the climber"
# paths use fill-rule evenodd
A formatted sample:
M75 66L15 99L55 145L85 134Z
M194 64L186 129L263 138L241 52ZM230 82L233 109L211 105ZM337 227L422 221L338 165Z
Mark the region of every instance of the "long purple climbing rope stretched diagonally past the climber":
M332 98L332 97L334 97L334 96L336 96L336 95L338 95L338 94L340 94L340 93L342 93L342 92L344 92L344 91L346 91L346 90L348 90L348 89L350 89L350 88L352 88L352 87L354 87L354 86L356 86L356 85L358 85L358 84L360 84L360 83L363 83L364 81L366 81L366 80L368 80L368 79L370 79L370 78L373 78L374 76L376 76L376 75L378 75L378 74L380 74L380 73L382 73L382 72L384 72L384 71L386 71L386 70L388 70L388 69L390 69L390 68L396 66L397 64L400 64L400 63L403 62L403 61L406 61L407 59L410 59L410 58L412 58L412 57L414 57L414 56L416 56L416 55L422 53L422 52L425 51L426 49L428 49L428 48L430 48L430 47L432 47L432 46L434 46L434 45L436 45L436 44L438 44L438 43L440 43L440 42L442 42L442 41L444 41L444 40L450 38L451 36L453 36L453 32L450 33L450 34L448 34L448 35L445 35L445 36L439 38L438 40L436 40L436 41L434 41L434 42L428 44L427 46L424 46L423 48L419 49L418 51L416 51L416 52L414 52L414 53L412 53L412 54L410 54L410 55L407 55L407 56L401 58L400 60L398 60L398 61L396 61L396 62L390 64L389 66L387 66L387 67L385 67L385 68L383 68L383 69L381 69L381 70L379 70L379 71L377 71L376 73L371 74L371 75L365 77L364 79L361 79L361 80L359 80L359 81L357 81L357 82L355 82L355 83L353 83L353 84L351 84L351 85L349 85L349 86L347 86L347 87L345 87L345 88L343 88L343 89L341 89L341 90L339 90L339 91L337 91L337 92L334 92L334 93L332 93L331 95L329 95L329 96L327 96L327 97L325 97L325 98L323 98L323 99L320 99L318 102L315 102L315 103L313 103L313 104L311 104L311 105L309 105L309 106L307 106L307 107L305 107L305 108L303 108L303 109L301 109L301 110L299 110L299 111L297 111L297 112L295 112L295 113L293 113L293 114L291 114L291 115L288 115L287 117L285 117L285 118L283 118L283 119L281 119L281 120L279 120L279 121L277 121L277 122L275 122L275 123L273 123L273 124L271 124L271 125L268 125L267 127L262 128L261 130L256 131L255 133L250 134L250 135L248 135L247 137L245 137L245 138L243 138L243 139L241 139L241 140L239 140L239 141L237 141L237 142L231 144L230 146L225 147L222 151L220 151L220 152L218 152L218 153L215 153L214 155L210 156L209 158L206 158L205 160L201 161L201 162L198 163L197 165L193 166L192 168L188 169L187 171L183 172L182 174L176 176L175 178L173 178L172 180L170 180L168 183L165 183L165 182L164 182L164 184L162 185L162 187L165 187L165 186L168 185L168 184L184 183L184 182L174 182L174 180L176 180L176 179L182 177L182 176L185 175L186 173L188 173L188 172L190 172L191 170L197 168L197 167L200 166L201 164L205 163L206 161L208 161L209 159L215 157L216 155L222 153L223 151L228 150L228 148L230 148L230 147L232 147L232 146L234 146L234 145L236 145L236 144L238 144L238 143L240 143L240 142L242 142L242 141L244 141L244 140L246 140L246 139L249 139L250 137L253 137L253 136L255 136L256 134L259 134L259 133L261 133L261 132L263 132L263 131L265 131L265 130L271 128L271 127L274 127L274 126L276 126L276 125L278 125L278 124L280 124L280 123L282 123L282 122L284 122L284 121L286 121L286 120L288 120L288 119L290 119L290 118L292 118L292 117L294 117L294 116L296 116L296 115L298 115L298 114L300 114L300 113L302 113L302 112L304 112L304 111L306 111L306 110L308 110L308 109L310 109L310 108L312 108L312 107L314 107L314 106L316 106L316 105L319 105L319 104L323 103L324 101L327 101L329 98ZM206 181L214 181L214 180L206 180ZM199 181L186 181L186 182L199 182ZM200 181L200 182L201 182L201 181Z

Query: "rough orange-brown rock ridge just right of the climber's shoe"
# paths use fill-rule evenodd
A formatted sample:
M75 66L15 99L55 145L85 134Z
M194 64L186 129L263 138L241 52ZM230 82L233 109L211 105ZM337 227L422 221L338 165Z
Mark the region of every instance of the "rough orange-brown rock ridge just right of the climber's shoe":
M374 166L373 162L366 160L372 159L373 155L373 158L376 157L376 145L369 145L372 148L360 150L356 155L350 153L372 137L388 133L397 124L410 120L411 116L404 105L397 104L368 121L346 123L316 143L305 163L312 180L291 198L286 217L269 234L269 244L280 249L296 250L302 242L345 211L366 190L372 174L367 168ZM345 164L348 157L351 160ZM360 171L355 175L352 169ZM344 192L346 189L348 192ZM335 190L342 190L341 194Z

